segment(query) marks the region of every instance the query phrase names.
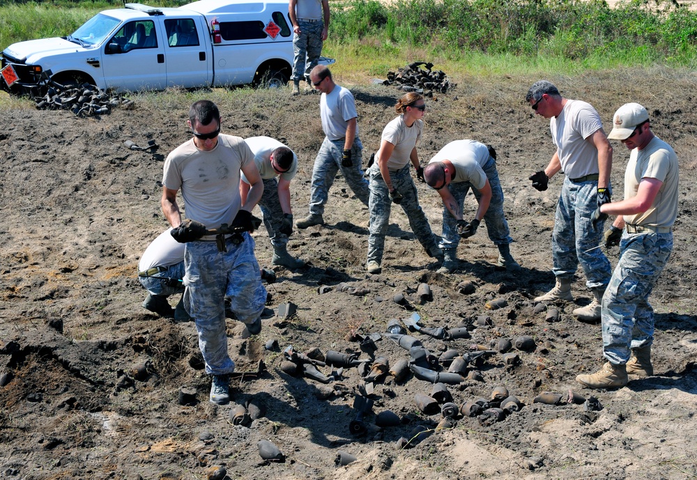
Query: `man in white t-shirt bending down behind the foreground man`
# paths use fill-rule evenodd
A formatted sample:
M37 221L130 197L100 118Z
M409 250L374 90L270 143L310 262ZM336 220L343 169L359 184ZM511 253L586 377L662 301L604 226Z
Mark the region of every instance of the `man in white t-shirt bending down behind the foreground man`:
M263 181L263 195L259 209L263 224L273 245L271 263L286 268L300 268L305 262L288 253L288 238L293 234L291 210L291 180L298 171L298 157L293 150L271 137L250 137L245 143L254 153L254 163ZM240 195L242 205L247 202L250 183L242 174Z

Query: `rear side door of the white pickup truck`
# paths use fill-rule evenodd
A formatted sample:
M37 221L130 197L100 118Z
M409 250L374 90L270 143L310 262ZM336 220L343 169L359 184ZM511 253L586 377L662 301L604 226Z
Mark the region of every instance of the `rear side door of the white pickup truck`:
M167 86L197 88L210 86L213 64L205 17L164 19L167 34Z

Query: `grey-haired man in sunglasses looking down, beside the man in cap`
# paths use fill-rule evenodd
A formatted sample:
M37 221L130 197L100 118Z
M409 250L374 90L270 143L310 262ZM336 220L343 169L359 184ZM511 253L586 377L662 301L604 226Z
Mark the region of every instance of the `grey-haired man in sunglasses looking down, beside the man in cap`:
M611 200L612 147L597 110L587 102L562 97L551 82L535 82L526 102L537 115L549 118L557 148L547 167L530 176L533 187L542 192L555 173L565 173L552 232L556 285L535 302L571 302L571 282L580 264L593 298L588 306L573 313L582 322L597 323L612 270L603 252L595 248L602 231L593 229L589 218L595 208Z

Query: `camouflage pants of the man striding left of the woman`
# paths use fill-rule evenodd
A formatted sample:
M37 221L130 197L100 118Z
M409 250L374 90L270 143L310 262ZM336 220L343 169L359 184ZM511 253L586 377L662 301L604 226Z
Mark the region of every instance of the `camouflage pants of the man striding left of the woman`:
M368 180L363 177L361 168L363 145L360 143L360 139L356 137L351 146L353 167L342 167L343 151L343 139L330 141L330 139L324 137L312 168L309 212L313 215L322 215L324 213L324 205L329 198L329 189L332 187L334 178L339 170L341 170L348 187L351 187L355 196L365 206L368 205Z

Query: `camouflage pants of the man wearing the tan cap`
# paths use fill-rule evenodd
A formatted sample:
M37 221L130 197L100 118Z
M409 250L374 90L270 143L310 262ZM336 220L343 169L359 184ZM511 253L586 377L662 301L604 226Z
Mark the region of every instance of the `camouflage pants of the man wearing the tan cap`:
M625 231L620 251L601 313L603 353L613 364L626 364L630 348L653 343L654 316L648 298L673 251L673 233Z

